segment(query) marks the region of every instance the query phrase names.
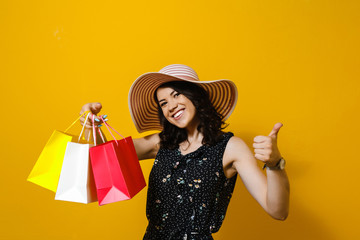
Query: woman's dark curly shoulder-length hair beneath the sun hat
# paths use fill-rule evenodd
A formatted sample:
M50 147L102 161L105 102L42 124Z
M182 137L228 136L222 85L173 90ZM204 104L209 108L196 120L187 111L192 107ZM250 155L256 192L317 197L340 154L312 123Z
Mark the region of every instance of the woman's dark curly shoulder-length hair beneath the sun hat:
M170 87L187 97L195 106L196 116L200 120L198 131L203 134L203 145L214 145L222 139L222 130L227 127L223 121L223 116L219 114L212 105L208 92L201 86L185 81L174 81L162 84L159 88ZM178 128L169 123L165 118L161 106L154 93L155 101L158 104L158 115L163 130L160 132L160 147L167 149L176 149L179 144L187 140L186 129Z

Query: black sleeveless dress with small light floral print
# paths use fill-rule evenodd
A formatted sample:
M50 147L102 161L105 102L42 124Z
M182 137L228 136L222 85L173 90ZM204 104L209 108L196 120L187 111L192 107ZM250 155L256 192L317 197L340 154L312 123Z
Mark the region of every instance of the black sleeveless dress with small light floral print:
M182 155L179 149L161 148L149 176L143 239L213 239L224 220L236 176L223 171L226 144L234 134L225 133L214 146L201 146Z

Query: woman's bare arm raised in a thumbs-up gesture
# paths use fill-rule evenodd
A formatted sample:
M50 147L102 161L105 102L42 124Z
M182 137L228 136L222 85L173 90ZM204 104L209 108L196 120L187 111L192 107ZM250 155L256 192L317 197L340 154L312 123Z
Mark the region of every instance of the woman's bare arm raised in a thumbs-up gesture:
M269 136L254 138L255 158L270 167L275 166L281 158L277 147L277 134L281 127L282 124L277 123ZM231 163L233 170L239 173L250 194L270 216L277 220L287 218L290 185L285 169L267 169L265 176L249 147L238 137L230 139L224 158L225 162Z

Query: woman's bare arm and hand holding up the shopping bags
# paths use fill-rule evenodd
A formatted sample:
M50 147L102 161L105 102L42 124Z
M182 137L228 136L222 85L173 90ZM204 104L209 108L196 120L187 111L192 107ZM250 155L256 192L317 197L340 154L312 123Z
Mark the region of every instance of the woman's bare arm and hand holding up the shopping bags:
M85 111L91 111L91 113L95 115L95 118L99 119L96 116L96 114L98 114L100 112L101 108L102 108L102 106L98 102L87 103L81 108L80 114L82 114ZM90 116L90 117L92 117L92 116ZM88 134L91 133L92 122L91 122L90 118L88 119L88 121L86 123L84 121L85 121L85 117L83 116L80 119L80 122L81 122L81 124L86 124L85 136L87 137ZM95 122L95 124L97 127L97 125L101 124L101 122ZM98 139L98 144L101 144L102 142L100 141L100 137L98 137L97 139ZM148 135L148 136L145 136L142 138L135 138L135 139L133 139L133 142L134 142L136 154L137 154L139 160L152 159L152 158L155 158L155 156L159 150L160 137L159 137L158 133L155 133L155 134Z

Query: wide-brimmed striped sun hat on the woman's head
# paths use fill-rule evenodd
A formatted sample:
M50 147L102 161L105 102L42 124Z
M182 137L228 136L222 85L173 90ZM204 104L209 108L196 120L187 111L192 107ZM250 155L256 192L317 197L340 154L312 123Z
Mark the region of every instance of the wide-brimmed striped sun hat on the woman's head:
M158 106L154 99L156 89L166 82L187 81L200 85L208 93L215 109L226 120L235 108L237 89L226 79L199 81L196 72L183 64L172 64L159 72L149 72L138 77L129 91L129 109L131 118L139 133L150 130L162 130L158 117Z

